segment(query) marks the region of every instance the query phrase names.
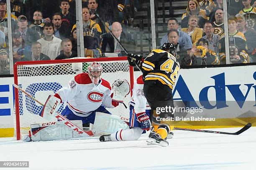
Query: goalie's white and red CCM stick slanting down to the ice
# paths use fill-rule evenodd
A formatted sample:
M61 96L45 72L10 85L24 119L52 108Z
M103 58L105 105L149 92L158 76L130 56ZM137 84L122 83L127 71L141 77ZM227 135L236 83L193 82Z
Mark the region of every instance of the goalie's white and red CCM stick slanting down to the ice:
M15 88L17 88L18 90L22 91L23 93L25 93L28 97L31 97L33 100L35 100L36 102L38 102L40 105L44 106L43 103L39 102L38 100L36 100L36 98L34 98L33 96L31 96L29 93L27 93L25 90L23 90L22 88L20 88L18 85L13 85ZM72 123L70 120L68 120L66 117L62 116L59 112L56 112L57 115L53 115L54 117L56 117L59 121L63 122L65 125L67 125L70 129L72 129L74 132L80 134L82 137L89 137L89 136L93 136L93 133L91 130L89 131L84 131L81 128L79 128L77 125L75 125L74 123ZM45 118L45 117L44 117Z

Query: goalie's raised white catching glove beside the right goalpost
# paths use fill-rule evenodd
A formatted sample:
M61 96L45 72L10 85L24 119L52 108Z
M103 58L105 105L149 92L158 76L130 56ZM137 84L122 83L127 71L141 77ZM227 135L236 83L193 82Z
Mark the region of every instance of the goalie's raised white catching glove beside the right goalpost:
M127 80L115 80L112 85L113 97L112 100L123 103L124 98L130 93L130 85Z

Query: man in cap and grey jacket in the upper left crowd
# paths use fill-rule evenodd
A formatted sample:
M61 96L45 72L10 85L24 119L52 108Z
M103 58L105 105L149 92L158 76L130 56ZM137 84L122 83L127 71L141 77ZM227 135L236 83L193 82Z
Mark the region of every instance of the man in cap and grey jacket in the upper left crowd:
M15 30L15 32L20 32L26 45L31 46L32 42L40 39L38 32L32 30L31 28L28 28L28 19L25 15L20 15L18 17L18 26L19 29Z

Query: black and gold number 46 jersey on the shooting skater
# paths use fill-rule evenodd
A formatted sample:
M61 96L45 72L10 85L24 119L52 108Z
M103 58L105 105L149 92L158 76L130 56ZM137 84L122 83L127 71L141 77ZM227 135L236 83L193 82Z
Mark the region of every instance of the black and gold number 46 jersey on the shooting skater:
M156 49L149 52L145 58L142 69L145 85L157 83L163 90L172 90L179 72L179 62L164 50Z

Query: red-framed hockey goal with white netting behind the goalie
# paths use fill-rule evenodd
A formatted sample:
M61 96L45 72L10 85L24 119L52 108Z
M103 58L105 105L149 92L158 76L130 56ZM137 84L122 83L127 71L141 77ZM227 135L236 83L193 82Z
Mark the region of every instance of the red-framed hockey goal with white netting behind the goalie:
M133 67L127 61L127 57L110 58L84 58L76 57L67 60L47 61L26 61L16 62L14 65L14 83L28 92L40 102L44 103L47 97L54 95L61 87L68 85L68 82L75 75L87 72L88 65L92 62L99 62L102 67L102 78L110 83L110 86L117 79L125 79L133 89L134 75ZM31 124L47 122L38 114L42 106L23 92L15 90L14 110L14 140L20 140L22 135L28 135ZM131 95L125 97L125 104L131 100ZM67 103L64 103L61 112ZM129 108L119 105L113 109L107 108L113 115L129 117Z

